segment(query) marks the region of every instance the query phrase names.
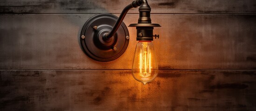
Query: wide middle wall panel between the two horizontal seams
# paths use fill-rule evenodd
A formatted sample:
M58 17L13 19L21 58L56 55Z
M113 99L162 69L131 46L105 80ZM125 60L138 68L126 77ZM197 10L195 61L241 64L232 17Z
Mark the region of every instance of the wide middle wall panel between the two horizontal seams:
M80 32L94 15L0 15L0 69L131 69L135 28L128 27L129 46L115 61L96 62L83 53ZM137 19L128 14L124 22ZM152 21L162 25L153 41L161 69L256 68L256 15L153 14Z

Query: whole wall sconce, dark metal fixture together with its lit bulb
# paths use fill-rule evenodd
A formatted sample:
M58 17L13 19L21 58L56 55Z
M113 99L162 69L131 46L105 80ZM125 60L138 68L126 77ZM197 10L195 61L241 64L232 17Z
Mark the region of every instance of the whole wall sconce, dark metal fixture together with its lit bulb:
M96 61L109 62L117 59L125 52L130 38L123 19L131 8L138 6L140 6L138 24L129 25L136 27L138 41L132 63L132 75L145 85L154 80L158 74L151 41L153 37L159 38L159 35L153 35L153 28L160 27L159 24L151 23L151 8L147 0L133 1L125 7L119 18L108 13L93 16L83 25L80 42L85 54Z

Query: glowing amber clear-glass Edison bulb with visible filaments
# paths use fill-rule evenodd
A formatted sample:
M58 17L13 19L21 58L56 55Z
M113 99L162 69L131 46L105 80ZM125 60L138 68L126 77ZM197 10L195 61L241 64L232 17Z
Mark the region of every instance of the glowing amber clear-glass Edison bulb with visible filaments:
M133 77L144 85L156 78L158 65L151 41L137 43L131 70Z

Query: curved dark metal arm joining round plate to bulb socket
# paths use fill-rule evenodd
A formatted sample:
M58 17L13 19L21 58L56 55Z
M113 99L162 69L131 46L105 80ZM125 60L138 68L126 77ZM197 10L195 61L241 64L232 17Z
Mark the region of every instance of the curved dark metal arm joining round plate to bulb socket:
M115 33L118 31L119 26L121 25L122 21L125 19L125 15L131 8L136 8L140 6L142 3L146 2L146 0L134 0L131 4L126 6L122 13L120 14L116 24L114 25L112 31L110 33L105 34L105 39L110 40L111 37L115 35Z

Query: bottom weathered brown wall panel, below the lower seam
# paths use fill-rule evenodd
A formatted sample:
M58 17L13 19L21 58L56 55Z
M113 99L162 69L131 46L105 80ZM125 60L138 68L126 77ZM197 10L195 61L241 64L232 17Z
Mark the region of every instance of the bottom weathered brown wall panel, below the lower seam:
M255 111L255 70L2 70L1 111ZM15 108L14 108L15 106Z

